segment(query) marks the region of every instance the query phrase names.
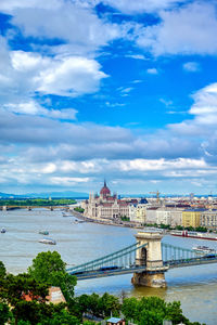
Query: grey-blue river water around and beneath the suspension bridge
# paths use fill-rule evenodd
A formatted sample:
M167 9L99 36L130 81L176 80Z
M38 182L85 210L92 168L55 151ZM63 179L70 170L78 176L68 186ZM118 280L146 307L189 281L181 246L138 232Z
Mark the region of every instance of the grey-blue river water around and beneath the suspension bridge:
M63 217L61 210L0 211L0 229L7 229L5 234L0 234L0 260L8 272L25 272L40 251L59 251L69 268L135 243L136 230L74 221L73 216ZM43 237L38 233L40 230L48 230L49 236L58 244L38 243ZM167 235L163 242L186 248L205 245L217 250L217 242L210 240ZM130 278L131 275L119 275L80 281L76 286L76 295L107 291L119 296L124 290L127 296L158 296L166 301L180 300L184 315L192 322L217 324L217 264L169 270L166 273L167 288L135 288Z

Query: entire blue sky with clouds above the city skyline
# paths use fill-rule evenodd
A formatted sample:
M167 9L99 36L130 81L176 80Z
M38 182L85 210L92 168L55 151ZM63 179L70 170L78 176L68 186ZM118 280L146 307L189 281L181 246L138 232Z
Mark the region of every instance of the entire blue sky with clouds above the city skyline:
M217 193L217 2L1 0L0 192Z

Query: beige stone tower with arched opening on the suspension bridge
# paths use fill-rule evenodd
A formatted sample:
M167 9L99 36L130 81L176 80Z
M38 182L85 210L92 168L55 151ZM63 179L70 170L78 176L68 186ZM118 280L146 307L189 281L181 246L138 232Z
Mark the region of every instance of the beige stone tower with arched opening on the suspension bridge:
M145 266L145 271L133 273L133 285L148 287L166 287L164 273L167 266L162 259L162 234L159 232L138 232L135 235L139 245L145 247L136 252L136 264Z

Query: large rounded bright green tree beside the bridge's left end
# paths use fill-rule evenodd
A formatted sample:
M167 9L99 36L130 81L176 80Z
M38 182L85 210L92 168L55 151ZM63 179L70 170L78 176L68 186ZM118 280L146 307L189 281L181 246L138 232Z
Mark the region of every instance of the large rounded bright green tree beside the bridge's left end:
M66 272L65 265L58 251L42 251L33 260L28 273L39 283L60 287L68 301L74 296L77 281L75 276Z

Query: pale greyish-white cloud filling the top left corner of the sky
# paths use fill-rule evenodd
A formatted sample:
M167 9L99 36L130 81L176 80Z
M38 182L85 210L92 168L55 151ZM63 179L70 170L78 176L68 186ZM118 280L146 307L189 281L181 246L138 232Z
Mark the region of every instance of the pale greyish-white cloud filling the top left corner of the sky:
M11 23L24 36L59 39L60 46L73 46L67 47L71 54L95 51L125 35L125 25L100 18L90 6L80 4L79 1L64 0L2 1L0 11L12 15Z

